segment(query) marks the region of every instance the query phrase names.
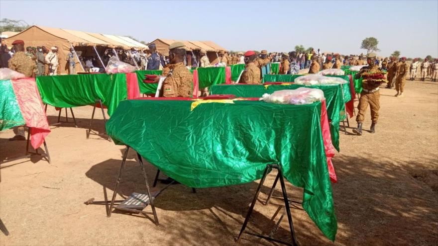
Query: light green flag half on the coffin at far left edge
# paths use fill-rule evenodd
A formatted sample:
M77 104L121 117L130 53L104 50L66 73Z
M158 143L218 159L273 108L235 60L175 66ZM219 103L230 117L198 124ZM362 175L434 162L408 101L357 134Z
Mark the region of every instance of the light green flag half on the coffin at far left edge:
M0 80L0 131L25 123L11 81Z

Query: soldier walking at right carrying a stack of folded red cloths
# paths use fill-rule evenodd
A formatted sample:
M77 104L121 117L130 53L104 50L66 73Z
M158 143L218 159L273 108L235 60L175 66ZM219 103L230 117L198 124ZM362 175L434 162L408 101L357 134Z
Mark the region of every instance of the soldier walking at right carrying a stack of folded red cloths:
M363 67L360 69L360 71L356 74L354 79L359 79L361 75L365 72L379 72L379 66L376 65L376 54L370 53L367 56L367 62L368 66ZM357 121L357 128L353 129L353 132L357 135L362 135L362 122L365 119L365 113L366 108L368 107L368 104L370 105L371 109L371 128L370 132L375 133L375 127L377 124L377 120L379 119L379 109L380 109L380 92L379 92L379 85L378 82L373 82L371 80L363 80L362 82L362 92L360 93L359 97L359 104L357 105L357 108L359 109L359 112L357 113L356 121Z

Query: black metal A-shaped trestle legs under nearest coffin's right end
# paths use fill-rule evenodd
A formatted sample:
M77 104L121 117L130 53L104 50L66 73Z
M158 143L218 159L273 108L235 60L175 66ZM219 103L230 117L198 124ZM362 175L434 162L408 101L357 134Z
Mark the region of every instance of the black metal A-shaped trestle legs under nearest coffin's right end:
M237 237L236 242L240 241L240 238L241 238L243 232L245 231L245 228L246 228L246 225L248 224L248 221L249 221L249 218L251 216L251 213L254 210L254 205L255 205L255 203L257 201L257 197L258 197L258 195L260 193L260 188L263 185L263 182L265 181L265 178L266 178L268 172L272 168L276 168L278 170L278 173L279 173L278 176L279 176L279 179L280 179L281 190L282 190L282 193L283 193L283 199L284 199L286 214L287 214L287 217L288 217L289 229L290 229L290 232L291 232L291 241L292 241L292 243L283 242L283 241L280 241L280 240L277 240L277 239L274 239L274 238L271 238L271 237L268 237L268 236L263 236L263 235L259 235L259 234L255 234L255 233L247 232L247 234L255 236L255 237L258 237L258 238L262 238L262 239L265 239L265 240L268 240L268 241L284 244L284 245L298 246L297 239L295 238L294 224L293 224L293 221L292 221L292 214L291 214L291 209L289 207L289 199L288 199L287 192L286 192L286 186L285 186L285 183L284 183L284 178L283 178L283 175L281 174L281 167L279 165L276 165L276 164L268 164L268 165L266 165L265 172L263 173L262 179L260 180L258 188L257 188L257 190L255 192L254 199L252 200L251 206L249 207L248 214L246 215L245 221L243 222L242 229L240 230L240 233L239 233L239 236ZM282 220L282 219L283 219L283 216L280 218L280 220ZM278 224L279 223L277 223L277 225ZM272 233L269 236L271 236L271 235L272 235Z

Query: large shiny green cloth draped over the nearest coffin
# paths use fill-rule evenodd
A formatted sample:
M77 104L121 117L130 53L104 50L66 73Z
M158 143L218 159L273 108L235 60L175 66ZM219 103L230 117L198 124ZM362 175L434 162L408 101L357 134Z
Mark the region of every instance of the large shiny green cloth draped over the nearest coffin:
M334 241L337 223L321 102L202 103L191 111L192 102L122 101L107 132L189 187L252 182L261 178L266 164L280 164L285 178L304 188L304 210Z

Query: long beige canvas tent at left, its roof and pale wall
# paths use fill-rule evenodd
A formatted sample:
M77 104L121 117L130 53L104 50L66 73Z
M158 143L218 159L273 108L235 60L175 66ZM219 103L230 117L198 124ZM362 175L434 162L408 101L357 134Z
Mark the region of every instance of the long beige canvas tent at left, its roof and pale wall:
M147 49L147 46L141 43L132 42L134 40L131 42L126 41L129 40L127 37L35 25L13 36L10 36L7 39L4 39L4 43L7 46L10 46L12 45L12 42L17 39L23 40L24 46L45 46L48 49L50 49L52 46L57 46L60 74L68 74L67 54L69 53L69 49L72 47L74 47L75 50L81 50L87 54L93 55L96 54L95 51L98 51L102 54L103 50L107 48ZM75 60L78 62L77 59ZM76 71L81 72L81 66L79 66Z

